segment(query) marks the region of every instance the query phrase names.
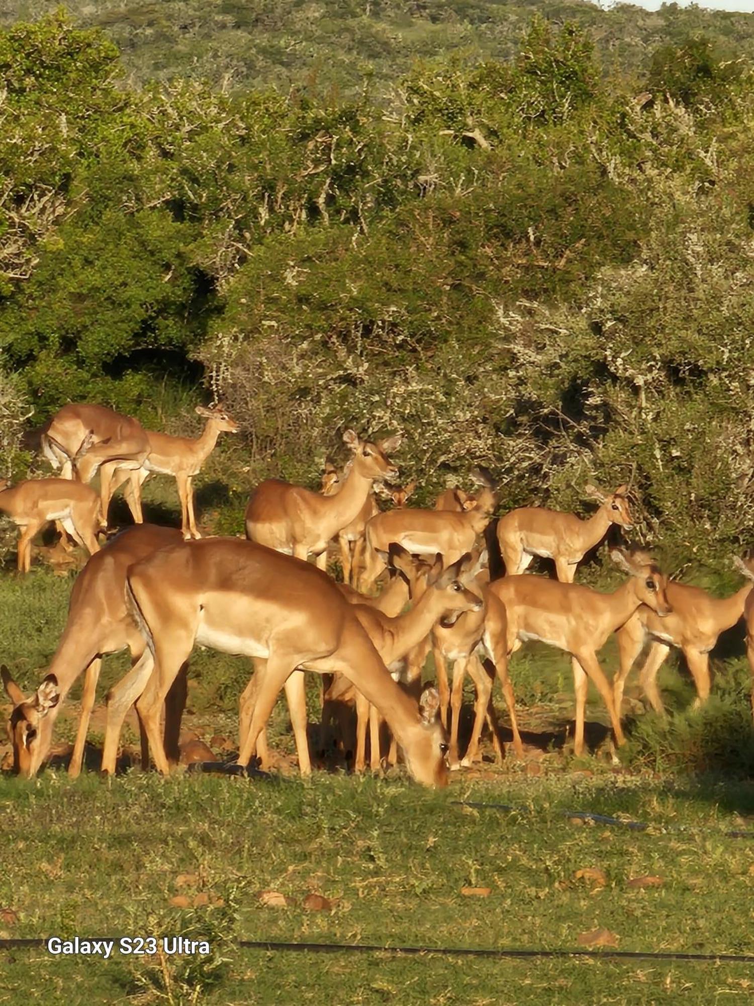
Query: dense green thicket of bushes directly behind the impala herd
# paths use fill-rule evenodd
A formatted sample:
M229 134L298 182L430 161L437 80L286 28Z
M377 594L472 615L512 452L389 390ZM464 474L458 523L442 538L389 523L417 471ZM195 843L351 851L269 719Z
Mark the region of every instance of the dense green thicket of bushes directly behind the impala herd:
M347 98L132 87L101 30L10 25L0 351L31 422L89 399L154 425L157 382L203 367L249 484L402 429L419 503L479 464L504 509L630 481L671 568L722 569L754 528L754 109L746 36L731 60L713 21L615 64L536 16L510 58Z

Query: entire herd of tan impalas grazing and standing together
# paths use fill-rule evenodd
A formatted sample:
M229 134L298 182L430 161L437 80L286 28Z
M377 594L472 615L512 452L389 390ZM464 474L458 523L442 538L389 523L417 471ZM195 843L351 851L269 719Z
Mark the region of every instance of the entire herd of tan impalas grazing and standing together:
M351 459L342 471L328 465L322 493L268 479L249 499L246 540L201 539L192 479L219 434L238 428L220 405L196 411L206 426L192 440L144 430L137 420L100 405L66 405L41 438L44 455L61 477L12 488L0 483L0 511L20 528L19 571L28 571L31 539L48 521L57 522L63 539L70 535L90 553L73 585L49 672L36 692L24 696L7 669L0 668L13 702L8 728L14 769L23 776L34 776L45 761L55 717L73 682L84 674L68 768L73 776L80 772L102 658L127 648L131 669L107 700L102 768L109 774L115 773L121 729L132 705L139 717L144 766L151 754L156 768L167 773L178 761L188 663L196 644L252 658L254 672L239 698L241 766L255 758L262 768L269 765L265 724L285 689L299 767L303 775L311 773L304 673L315 671L324 677L322 744L327 746L325 738L337 723L334 742L353 750L354 769L362 772L369 733L372 769L378 770L385 759L394 764L400 748L410 774L428 786L444 785L448 768L478 760L486 721L502 759L492 701L496 676L514 750L523 757L508 664L527 640L571 656L576 753L584 747L589 679L607 708L615 742L623 742L623 687L646 644L639 681L661 712L656 674L671 647L684 652L697 702L704 702L710 693L709 653L720 633L742 616L754 674L751 560L737 560L746 583L722 600L669 582L651 556L638 550L611 551L626 575L612 594L573 582L578 563L610 525L631 528L627 486L612 493L587 486L586 495L599 503L588 520L540 507L501 517L497 544L506 575L491 579L485 532L498 503L492 485L476 493L448 489L433 510L409 508L415 483L382 485L397 478L390 456L400 438L373 443L347 430L343 440ZM98 472L99 496L88 485ZM143 523L141 487L153 474L176 480L180 531ZM124 483L135 524L100 549L97 534L107 528L112 495ZM378 492L392 502L391 509L381 510ZM327 572L328 549L336 540L344 582ZM554 560L557 579L526 573L535 555ZM385 572L382 590L375 594ZM609 682L597 653L612 633L620 666ZM422 689L430 650L437 683ZM466 670L476 701L461 759L458 722ZM354 705L356 733L349 743L346 713ZM383 723L392 738L387 751Z

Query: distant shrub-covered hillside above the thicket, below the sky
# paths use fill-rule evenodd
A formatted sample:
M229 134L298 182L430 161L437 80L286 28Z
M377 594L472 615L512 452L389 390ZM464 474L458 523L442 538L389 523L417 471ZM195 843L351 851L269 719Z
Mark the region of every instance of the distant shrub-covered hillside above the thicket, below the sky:
M58 0L18 0L0 24L54 10ZM137 79L174 75L234 86L292 83L359 91L363 74L384 92L416 58L509 58L535 12L588 28L605 67L638 71L668 42L704 32L724 50L754 52L754 17L699 8L609 11L579 0L67 0L83 25L118 43Z

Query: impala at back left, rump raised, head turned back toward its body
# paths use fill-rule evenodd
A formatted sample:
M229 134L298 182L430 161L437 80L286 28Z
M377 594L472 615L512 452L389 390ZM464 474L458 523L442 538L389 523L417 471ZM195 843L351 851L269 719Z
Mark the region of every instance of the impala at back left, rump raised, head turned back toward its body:
M45 457L53 468L62 469L64 478L72 478L75 468L81 482L88 483L100 471L100 499L106 521L113 475L127 471L132 489L129 507L135 522L142 523L139 469L149 453L149 442L138 420L104 405L71 403L55 412L42 432L41 443Z

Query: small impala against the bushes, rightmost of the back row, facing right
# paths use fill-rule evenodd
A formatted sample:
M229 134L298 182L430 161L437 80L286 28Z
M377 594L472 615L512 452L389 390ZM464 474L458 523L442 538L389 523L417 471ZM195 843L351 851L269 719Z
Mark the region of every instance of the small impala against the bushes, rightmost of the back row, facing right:
M627 491L627 486L618 486L614 493L606 494L594 486L587 486L587 496L600 503L597 512L588 520L581 520L573 513L536 506L511 510L501 517L498 542L508 575L521 575L535 555L542 555L555 560L559 580L572 583L576 566L586 552L602 540L610 524L617 524L626 531L632 527Z

